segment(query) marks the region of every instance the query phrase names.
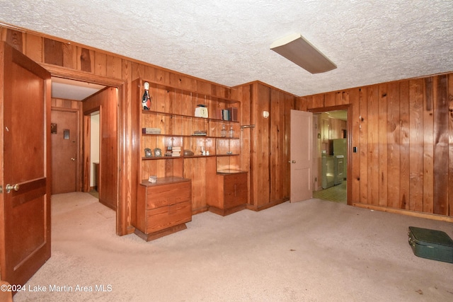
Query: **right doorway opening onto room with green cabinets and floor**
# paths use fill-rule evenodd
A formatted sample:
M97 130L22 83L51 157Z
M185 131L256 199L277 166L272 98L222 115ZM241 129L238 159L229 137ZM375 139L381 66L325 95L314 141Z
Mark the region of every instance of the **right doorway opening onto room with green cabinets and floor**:
M348 203L348 109L314 113L314 198Z

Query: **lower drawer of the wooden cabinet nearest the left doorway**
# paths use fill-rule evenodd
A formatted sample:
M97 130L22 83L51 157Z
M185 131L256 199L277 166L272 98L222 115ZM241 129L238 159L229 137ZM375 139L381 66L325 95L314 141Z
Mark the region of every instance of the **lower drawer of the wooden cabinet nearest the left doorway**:
M147 210L145 233L153 233L192 220L192 202L180 202L166 207Z

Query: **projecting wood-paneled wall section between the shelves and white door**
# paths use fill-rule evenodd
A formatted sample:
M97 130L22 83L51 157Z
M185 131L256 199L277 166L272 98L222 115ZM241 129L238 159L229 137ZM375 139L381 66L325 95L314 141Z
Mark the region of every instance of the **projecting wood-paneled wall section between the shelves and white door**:
M260 210L289 200L289 114L299 108L296 96L258 81L236 87L242 102L243 143L249 143L249 209ZM270 113L263 117L263 111ZM247 147L246 147L247 148ZM243 149L241 153L246 154ZM246 156L246 155L244 155Z

